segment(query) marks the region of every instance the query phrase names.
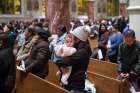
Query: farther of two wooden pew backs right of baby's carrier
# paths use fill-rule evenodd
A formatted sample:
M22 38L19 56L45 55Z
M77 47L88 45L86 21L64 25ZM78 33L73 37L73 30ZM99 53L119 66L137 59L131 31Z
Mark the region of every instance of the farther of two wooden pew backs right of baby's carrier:
M117 64L96 59L90 59L88 65L88 71L96 72L98 74L105 75L111 78L117 78L118 76L117 69L118 69Z

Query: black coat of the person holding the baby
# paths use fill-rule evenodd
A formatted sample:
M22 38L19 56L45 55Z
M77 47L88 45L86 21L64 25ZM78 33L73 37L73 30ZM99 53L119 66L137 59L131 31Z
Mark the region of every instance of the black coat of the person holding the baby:
M68 79L67 90L83 90L85 87L85 72L88 67L91 49L86 42L75 45L77 52L69 57L56 62L59 67L72 66L72 72Z

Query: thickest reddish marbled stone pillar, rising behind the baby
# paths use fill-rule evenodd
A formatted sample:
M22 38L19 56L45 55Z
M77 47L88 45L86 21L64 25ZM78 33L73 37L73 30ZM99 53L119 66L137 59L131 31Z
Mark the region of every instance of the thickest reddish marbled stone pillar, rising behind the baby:
M46 0L46 19L49 20L49 29L56 33L59 24L70 28L69 0Z

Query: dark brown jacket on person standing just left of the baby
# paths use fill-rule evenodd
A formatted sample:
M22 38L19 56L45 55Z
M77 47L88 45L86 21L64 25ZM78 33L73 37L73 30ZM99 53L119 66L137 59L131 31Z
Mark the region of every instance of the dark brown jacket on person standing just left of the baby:
M32 49L29 58L25 61L26 72L31 72L41 78L48 74L49 45L47 41L36 43Z

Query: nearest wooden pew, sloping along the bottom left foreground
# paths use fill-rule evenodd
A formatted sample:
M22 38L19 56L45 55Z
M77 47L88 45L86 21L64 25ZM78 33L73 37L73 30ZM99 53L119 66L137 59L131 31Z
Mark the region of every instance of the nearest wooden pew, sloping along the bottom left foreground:
M65 89L35 76L17 70L16 93L69 93Z

